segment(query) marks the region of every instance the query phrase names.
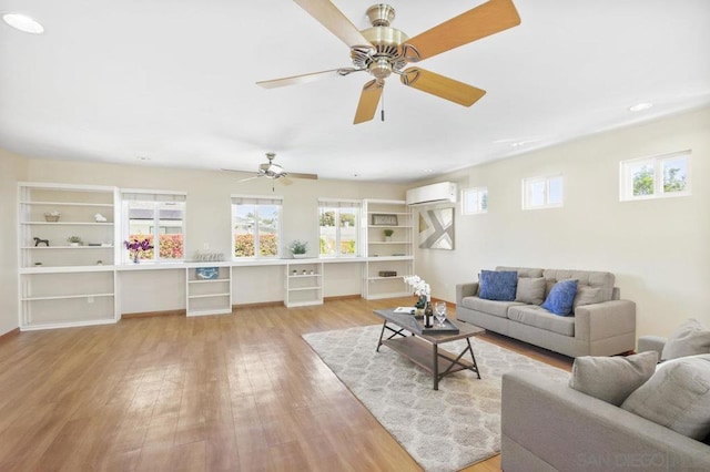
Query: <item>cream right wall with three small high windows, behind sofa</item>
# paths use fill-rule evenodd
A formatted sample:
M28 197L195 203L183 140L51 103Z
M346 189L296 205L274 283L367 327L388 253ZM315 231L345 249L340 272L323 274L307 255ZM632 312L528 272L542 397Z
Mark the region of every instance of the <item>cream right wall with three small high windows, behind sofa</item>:
M619 202L619 162L692 150L692 195ZM561 173L562 208L521 211L524 177ZM710 109L605 132L470 167L450 179L487 186L488 213L456 214L453 252L417 249L434 295L498 265L609 270L637 302L638 335L669 335L694 317L710 327Z

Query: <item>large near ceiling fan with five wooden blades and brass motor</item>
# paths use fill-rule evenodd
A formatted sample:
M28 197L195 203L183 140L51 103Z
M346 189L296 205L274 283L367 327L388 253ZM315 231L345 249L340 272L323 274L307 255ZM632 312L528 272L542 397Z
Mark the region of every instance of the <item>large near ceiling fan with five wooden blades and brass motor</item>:
M513 0L489 0L408 38L404 32L389 27L395 18L395 9L388 4L378 3L368 8L367 17L372 28L358 31L329 0L294 1L351 48L354 66L256 83L272 89L306 83L332 74L348 75L365 71L374 79L363 86L354 124L371 121L375 116L385 79L393 73L399 75L400 82L407 86L464 106L473 105L486 94L485 90L418 66L405 66L520 24Z

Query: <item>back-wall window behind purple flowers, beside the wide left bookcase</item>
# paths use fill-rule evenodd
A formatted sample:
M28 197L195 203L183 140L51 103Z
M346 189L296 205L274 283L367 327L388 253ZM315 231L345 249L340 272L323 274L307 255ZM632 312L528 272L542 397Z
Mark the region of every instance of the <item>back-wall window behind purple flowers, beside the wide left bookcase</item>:
M183 260L185 193L135 191L121 193L124 240L148 240L152 249L139 252L142 260ZM155 244L158 242L158 244ZM123 252L128 263L133 254Z

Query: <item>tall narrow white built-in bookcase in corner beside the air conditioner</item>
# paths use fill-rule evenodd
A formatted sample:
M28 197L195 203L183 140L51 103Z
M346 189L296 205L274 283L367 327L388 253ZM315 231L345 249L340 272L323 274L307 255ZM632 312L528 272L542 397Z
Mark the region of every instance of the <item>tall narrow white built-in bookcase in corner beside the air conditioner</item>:
M414 274L414 222L404 201L365 199L363 202L364 298L390 298L412 295L403 277ZM384 230L394 234L386 239ZM384 276L383 273L396 273Z

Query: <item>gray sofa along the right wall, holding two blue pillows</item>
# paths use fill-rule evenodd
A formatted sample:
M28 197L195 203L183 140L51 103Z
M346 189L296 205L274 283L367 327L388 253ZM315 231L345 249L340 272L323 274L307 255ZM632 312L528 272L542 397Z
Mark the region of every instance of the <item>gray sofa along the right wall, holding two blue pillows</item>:
M538 305L481 299L478 283L473 281L456 285L457 319L569 357L612 356L636 348L636 304L619 299L613 274L529 267L496 270L545 277L546 296L555 281L577 279L580 287L599 287L601 301L577 306L574 316L562 317Z

